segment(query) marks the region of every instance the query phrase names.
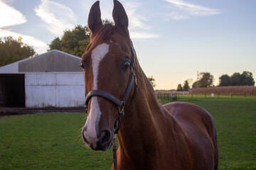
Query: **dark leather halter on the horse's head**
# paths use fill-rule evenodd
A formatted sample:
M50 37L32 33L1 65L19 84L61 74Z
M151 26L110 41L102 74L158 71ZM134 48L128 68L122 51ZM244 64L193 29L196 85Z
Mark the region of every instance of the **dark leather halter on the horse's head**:
M124 106L127 102L129 94L132 91L132 85L134 81L135 81L135 90L134 90L134 94L132 95L132 98L134 98L137 92L137 78L135 74L135 69L136 69L135 53L134 53L134 48L132 46L131 46L131 52L132 52L132 61L131 61L130 67L131 67L132 73L129 77L129 84L127 86L127 90L125 91L124 97L122 98L122 101L120 101L118 98L116 98L112 94L109 94L107 91L103 91L100 89L91 90L85 97L85 113L87 113L87 108L88 108L88 103L90 101L90 98L92 98L93 96L100 96L102 98L105 98L107 101L110 101L115 106L117 106L118 112L119 112L119 118L118 118L118 125L116 124L117 122L114 125L114 134L117 134L119 131L119 128L121 127L122 120L124 118Z

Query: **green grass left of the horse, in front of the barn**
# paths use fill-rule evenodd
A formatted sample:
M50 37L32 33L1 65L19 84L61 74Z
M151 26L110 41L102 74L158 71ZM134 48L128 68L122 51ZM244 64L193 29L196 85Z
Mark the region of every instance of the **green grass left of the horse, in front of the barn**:
M112 152L82 142L85 113L0 118L0 169L110 169Z

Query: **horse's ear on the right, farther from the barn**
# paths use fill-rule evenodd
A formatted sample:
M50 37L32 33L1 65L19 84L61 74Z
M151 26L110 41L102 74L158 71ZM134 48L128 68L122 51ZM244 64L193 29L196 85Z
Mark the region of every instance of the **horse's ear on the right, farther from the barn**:
M112 16L114 18L114 26L121 28L121 30L129 35L127 13L124 10L124 6L117 0L114 0Z

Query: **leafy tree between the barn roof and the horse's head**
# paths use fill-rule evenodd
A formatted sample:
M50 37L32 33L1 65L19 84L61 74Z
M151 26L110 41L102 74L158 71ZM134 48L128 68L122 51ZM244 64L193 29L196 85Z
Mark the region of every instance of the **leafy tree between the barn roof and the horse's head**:
M61 50L71 55L82 56L90 43L90 30L87 26L75 26L73 30L65 30L62 38L50 42L49 50Z

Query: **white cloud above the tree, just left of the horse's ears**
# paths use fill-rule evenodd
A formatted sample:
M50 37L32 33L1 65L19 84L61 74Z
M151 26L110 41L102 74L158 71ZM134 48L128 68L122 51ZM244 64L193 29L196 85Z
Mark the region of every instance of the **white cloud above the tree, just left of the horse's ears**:
M54 1L41 0L35 11L36 15L46 23L46 28L55 35L62 35L64 30L73 28L77 21L75 13L68 6Z

